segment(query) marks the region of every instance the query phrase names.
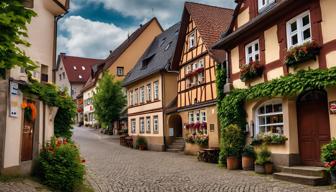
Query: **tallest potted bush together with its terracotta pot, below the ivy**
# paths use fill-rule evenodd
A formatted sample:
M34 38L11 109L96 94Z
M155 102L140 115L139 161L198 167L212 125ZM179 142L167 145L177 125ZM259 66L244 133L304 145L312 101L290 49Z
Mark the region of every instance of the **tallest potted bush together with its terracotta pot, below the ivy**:
M238 156L242 151L245 138L242 129L237 125L229 125L223 130L222 149L229 170L238 169Z

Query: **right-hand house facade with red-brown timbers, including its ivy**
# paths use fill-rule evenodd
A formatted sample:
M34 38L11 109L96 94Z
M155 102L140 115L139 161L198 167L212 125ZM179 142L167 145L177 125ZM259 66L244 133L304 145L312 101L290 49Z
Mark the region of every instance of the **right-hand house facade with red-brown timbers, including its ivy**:
M321 166L321 147L336 136L336 2L236 2L214 46L228 52L222 125L268 144L276 165Z

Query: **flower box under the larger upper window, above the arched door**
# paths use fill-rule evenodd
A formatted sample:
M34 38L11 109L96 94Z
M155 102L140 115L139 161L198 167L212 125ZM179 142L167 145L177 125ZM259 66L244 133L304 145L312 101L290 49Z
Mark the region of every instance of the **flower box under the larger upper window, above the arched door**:
M321 47L314 41L306 42L300 46L289 49L286 55L285 64L288 67L296 67L298 64L309 60L316 60Z

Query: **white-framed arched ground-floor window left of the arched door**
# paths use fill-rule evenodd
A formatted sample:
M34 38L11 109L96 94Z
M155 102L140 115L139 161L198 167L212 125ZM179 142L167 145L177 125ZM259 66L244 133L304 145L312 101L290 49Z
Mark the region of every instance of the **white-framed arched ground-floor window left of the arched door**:
M256 133L283 134L283 110L281 101L261 105L256 111Z

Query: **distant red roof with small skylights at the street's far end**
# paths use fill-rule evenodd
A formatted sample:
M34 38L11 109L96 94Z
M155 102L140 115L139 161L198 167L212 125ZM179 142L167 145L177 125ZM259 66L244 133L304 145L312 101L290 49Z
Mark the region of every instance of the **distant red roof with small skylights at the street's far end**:
M91 74L91 67L94 64L102 63L104 60L84 57L67 56L61 53L59 59L63 62L64 70L70 83L86 83ZM58 65L59 67L59 65Z

